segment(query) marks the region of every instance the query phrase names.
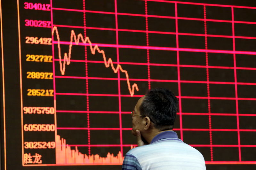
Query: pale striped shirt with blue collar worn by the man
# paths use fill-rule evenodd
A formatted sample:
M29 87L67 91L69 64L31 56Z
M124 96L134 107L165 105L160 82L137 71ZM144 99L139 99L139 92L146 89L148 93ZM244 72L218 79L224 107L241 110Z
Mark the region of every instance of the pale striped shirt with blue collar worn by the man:
M150 144L133 148L122 170L206 170L203 155L182 142L173 131L156 135Z

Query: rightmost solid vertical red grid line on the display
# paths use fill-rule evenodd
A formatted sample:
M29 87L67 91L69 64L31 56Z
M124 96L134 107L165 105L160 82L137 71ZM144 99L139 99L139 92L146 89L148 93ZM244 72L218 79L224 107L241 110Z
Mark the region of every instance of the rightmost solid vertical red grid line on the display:
M234 7L231 7L232 13L232 36L233 36L233 51L236 51L235 44L235 25L234 25ZM240 127L239 127L239 111L238 111L238 95L237 95L237 76L236 76L236 54L233 53L234 57L234 77L235 77L235 93L236 93L236 124L237 124L237 140L238 140L238 153L239 161L241 161L241 144L240 144Z

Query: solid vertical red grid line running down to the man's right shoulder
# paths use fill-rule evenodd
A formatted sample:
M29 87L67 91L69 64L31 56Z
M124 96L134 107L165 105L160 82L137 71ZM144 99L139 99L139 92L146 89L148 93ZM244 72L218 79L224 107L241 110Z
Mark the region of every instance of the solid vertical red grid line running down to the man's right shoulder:
M178 31L177 2L175 2L175 27L176 27L177 72L178 72L178 89L179 89L180 139L183 141L182 110L181 110L181 91L180 91L180 52L179 52L179 35L178 35L179 31Z

